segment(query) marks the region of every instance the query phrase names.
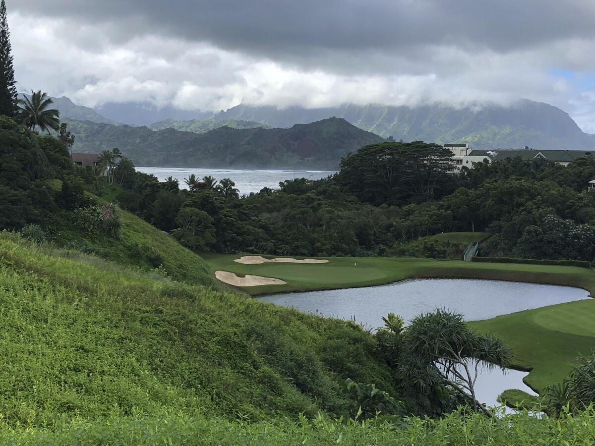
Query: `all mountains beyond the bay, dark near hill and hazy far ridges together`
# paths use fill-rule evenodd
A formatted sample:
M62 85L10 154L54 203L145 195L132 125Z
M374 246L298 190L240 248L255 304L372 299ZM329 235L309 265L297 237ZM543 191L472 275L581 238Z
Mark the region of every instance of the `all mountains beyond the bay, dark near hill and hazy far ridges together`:
M255 147L253 143L259 140L260 134L256 128L275 130L267 135L289 134L281 130L292 130L295 124L309 124L324 121L330 117L342 118L355 127L383 138L393 137L395 140L424 140L436 143L466 142L475 149L519 149L530 146L539 149L582 149L590 150L595 146L595 135L584 133L574 120L561 109L543 102L519 100L510 106L474 104L463 108L454 108L446 105L424 105L416 107L387 106L387 105L354 105L345 104L332 108L306 109L298 106L289 108L276 108L274 106L249 106L240 104L226 111L218 113L173 112L160 109L154 111L150 106L142 106L142 114L131 117L130 120L115 120L114 115L105 117L97 110L74 104L70 99L53 98L54 106L61 112L62 119L70 121L70 128L76 134L76 150L90 152L97 151L98 147L127 147L134 153L137 164L165 163L167 165L202 165L208 162L209 167L228 167L235 163L236 166L245 167L290 167L302 162L313 168L335 168L339 164L340 156L352 151L353 143L368 140L359 135L353 142L345 139L333 143L324 136L316 135L315 131L309 133L308 138L320 138L319 143L308 143L309 147L320 147L322 140L331 146L327 149L320 147L321 153L300 155L301 150L294 150L284 140L275 152L270 144L273 139L267 136L264 147ZM112 105L119 110L117 106ZM132 105L127 105L132 106ZM137 106L140 106L137 104ZM102 108L102 111L110 108ZM137 121L148 121L151 117L162 117L164 113L171 112L174 117L186 118L194 115L196 119L170 118L151 123L148 127L134 127ZM140 112L139 112L140 113ZM123 115L118 115L120 118ZM141 119L142 118L142 119ZM75 122L79 121L79 122ZM99 125L105 124L105 125ZM112 128L108 127L122 127ZM314 126L321 130L321 126ZM313 128L314 128L313 127ZM137 128L138 130L133 130ZM201 140L195 140L192 133L204 134L224 128L225 130L209 134ZM162 138L162 133L152 135L150 131L165 131L170 136L170 141ZM231 132L230 130L246 130L245 133ZM345 129L343 129L345 130ZM180 135L175 131L190 133ZM293 130L295 131L295 130ZM343 134L353 134L353 129ZM233 135L233 136L232 136ZM215 143L215 138L223 138L220 145ZM180 150L171 146L171 141L181 142ZM189 141L205 145L201 155L200 150L190 150ZM151 148L146 145L150 142ZM192 144L193 144L192 143ZM159 149L156 145L161 144ZM228 147L226 145L229 145ZM343 145L342 149L338 147ZM251 146L251 147L250 147ZM212 150L220 150L215 154ZM302 147L300 145L300 147ZM176 153L174 158L160 155ZM186 150L186 151L184 151ZM247 153L252 150L253 155ZM355 150L355 149L353 149ZM262 156L262 153L273 153L272 158ZM183 155L183 154L186 155ZM206 155L210 153L210 155ZM184 156L187 156L184 159ZM328 156L336 156L331 161ZM304 161L307 159L307 161ZM228 161L226 161L228 160ZM323 165L317 165L321 162ZM283 163L288 163L283 165Z

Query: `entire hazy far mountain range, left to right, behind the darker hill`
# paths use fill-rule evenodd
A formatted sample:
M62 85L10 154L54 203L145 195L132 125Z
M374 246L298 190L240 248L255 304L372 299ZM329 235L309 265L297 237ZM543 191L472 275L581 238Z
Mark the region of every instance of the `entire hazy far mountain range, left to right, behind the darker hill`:
M435 143L467 142L478 149L591 149L595 136L584 133L565 111L543 102L519 100L511 106L496 104L454 108L447 105L416 107L345 104L330 108L237 105L227 111L206 113L156 109L142 104L111 104L101 109L76 106L68 98L55 100L62 118L95 123L148 125L154 130L171 127L203 133L228 125L233 128L290 128L329 117L395 140Z

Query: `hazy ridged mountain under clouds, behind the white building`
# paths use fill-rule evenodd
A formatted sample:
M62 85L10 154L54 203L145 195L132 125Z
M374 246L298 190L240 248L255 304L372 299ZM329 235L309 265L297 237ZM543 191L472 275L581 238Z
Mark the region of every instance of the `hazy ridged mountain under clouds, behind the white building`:
M256 121L271 127L289 127L323 117L345 118L349 123L396 140L435 143L468 142L477 149L591 149L595 136L584 133L565 111L543 102L521 100L515 105L387 106L346 104L336 108L306 109L238 105L217 119Z

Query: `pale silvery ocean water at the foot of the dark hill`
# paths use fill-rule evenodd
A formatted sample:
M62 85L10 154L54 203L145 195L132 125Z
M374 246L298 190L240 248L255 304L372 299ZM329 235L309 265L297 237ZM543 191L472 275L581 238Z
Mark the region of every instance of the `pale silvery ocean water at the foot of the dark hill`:
M258 192L263 187L279 189L281 181L293 180L294 178L308 178L309 180L320 180L335 174L335 171L295 171L295 170L250 170L250 169L188 169L176 167L137 167L137 171L155 175L159 181L165 181L167 177L174 177L180 181L180 188L187 189L184 178L195 174L198 178L211 175L222 180L231 178L236 183L240 195L248 195L250 192Z

